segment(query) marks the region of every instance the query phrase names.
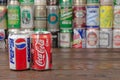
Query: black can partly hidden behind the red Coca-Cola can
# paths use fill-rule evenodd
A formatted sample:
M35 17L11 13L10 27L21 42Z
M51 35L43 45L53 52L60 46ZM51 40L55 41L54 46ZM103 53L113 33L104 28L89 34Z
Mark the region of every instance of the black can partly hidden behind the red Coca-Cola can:
M52 48L58 48L59 44L59 31L51 32L52 34Z

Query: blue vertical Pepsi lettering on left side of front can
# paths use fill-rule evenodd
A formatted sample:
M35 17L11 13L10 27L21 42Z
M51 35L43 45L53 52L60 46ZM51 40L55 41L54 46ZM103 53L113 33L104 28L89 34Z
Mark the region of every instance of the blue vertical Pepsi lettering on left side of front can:
M14 40L13 39L9 39L9 52L10 52L10 63L11 64L15 64L15 62L14 62L14 57L15 57L15 55L14 55Z

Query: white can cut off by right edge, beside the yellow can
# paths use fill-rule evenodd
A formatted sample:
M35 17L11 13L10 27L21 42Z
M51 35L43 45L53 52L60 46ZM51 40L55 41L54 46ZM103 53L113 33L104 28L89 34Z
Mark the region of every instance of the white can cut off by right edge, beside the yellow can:
M113 28L120 28L120 6L114 6Z

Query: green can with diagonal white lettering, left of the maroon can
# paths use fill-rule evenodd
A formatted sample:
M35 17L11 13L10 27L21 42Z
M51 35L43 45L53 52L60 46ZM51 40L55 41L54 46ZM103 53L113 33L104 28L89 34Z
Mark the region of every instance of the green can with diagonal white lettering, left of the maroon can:
M60 29L72 28L72 6L64 6L60 8Z

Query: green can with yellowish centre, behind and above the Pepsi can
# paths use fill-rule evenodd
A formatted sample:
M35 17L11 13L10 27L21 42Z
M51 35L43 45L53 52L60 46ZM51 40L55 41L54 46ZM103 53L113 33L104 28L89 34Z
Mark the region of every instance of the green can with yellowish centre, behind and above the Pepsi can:
M8 5L8 28L20 28L19 5Z

